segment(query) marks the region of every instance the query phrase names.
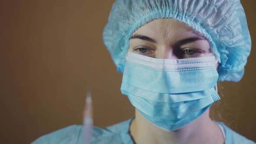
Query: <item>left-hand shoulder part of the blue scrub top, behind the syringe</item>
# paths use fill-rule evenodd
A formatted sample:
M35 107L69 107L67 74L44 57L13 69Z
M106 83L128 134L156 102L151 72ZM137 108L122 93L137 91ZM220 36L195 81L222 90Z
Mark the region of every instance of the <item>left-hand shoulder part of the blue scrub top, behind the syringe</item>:
M104 129L94 127L92 144L133 144L129 135L131 120ZM71 125L46 134L32 144L82 144L82 125Z

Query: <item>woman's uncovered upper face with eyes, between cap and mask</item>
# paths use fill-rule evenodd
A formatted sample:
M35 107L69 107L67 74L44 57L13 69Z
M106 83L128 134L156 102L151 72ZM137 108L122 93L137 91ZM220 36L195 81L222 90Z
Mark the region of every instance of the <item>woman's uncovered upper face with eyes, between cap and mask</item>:
M209 56L210 44L185 23L171 18L153 20L130 38L129 52L158 59Z

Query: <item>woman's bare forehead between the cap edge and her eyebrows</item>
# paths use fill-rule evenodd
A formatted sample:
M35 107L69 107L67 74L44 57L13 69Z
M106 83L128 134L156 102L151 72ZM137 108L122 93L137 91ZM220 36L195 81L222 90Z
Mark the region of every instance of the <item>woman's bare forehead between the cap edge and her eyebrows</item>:
M202 36L200 33L179 20L172 18L156 19L141 26L134 34L150 36L157 41L178 40L191 36Z

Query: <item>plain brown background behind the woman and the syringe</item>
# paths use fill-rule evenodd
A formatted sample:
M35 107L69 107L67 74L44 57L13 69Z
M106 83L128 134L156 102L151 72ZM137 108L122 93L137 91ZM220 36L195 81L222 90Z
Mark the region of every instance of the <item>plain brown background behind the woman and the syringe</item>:
M121 95L122 75L102 42L114 0L6 0L0 2L0 143L27 144L71 124L82 124L86 86L94 123L134 114ZM243 0L252 41L256 1ZM255 43L239 83L223 82L221 121L256 141ZM218 112L219 111L219 112Z

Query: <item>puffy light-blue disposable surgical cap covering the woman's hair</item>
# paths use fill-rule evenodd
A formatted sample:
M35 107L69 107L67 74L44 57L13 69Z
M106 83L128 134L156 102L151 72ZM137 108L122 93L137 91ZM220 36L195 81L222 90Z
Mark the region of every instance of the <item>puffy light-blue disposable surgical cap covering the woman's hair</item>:
M116 0L103 40L123 72L129 38L148 21L174 18L203 34L220 62L219 81L238 82L251 49L251 38L240 0Z

